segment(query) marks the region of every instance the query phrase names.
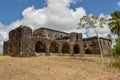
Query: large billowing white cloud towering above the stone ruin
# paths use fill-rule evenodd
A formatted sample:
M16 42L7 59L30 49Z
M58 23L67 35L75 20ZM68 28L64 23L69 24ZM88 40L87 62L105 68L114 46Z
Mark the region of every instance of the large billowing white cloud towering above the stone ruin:
M84 8L70 9L74 0L48 0L47 7L35 9L28 7L22 13L22 24L31 25L34 29L47 27L56 30L68 30L77 26L79 18L86 15Z

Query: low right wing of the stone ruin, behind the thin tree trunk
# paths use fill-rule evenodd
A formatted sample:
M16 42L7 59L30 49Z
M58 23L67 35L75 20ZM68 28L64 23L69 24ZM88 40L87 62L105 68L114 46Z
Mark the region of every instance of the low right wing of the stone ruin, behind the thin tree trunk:
M104 55L109 55L109 51L111 49L111 40L101 37L99 39ZM86 54L100 54L97 37L84 39L84 51Z

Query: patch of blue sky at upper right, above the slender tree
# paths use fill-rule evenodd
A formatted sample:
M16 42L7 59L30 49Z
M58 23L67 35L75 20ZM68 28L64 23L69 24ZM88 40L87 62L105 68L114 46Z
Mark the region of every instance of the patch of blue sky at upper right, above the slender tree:
M99 15L100 13L110 14L115 10L120 10L117 3L120 0L83 0L78 2L75 7L82 6L85 8L87 14L93 13Z

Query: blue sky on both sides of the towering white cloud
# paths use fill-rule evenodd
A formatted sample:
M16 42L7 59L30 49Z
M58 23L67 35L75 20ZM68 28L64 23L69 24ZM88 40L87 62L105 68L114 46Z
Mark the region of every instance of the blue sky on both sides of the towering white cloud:
M71 4L70 8L83 7L87 14L101 13L109 15L115 10L120 10L117 3L120 0L78 0ZM46 0L0 0L0 22L9 25L17 19L22 19L22 11L27 7L34 6L36 9L47 6Z

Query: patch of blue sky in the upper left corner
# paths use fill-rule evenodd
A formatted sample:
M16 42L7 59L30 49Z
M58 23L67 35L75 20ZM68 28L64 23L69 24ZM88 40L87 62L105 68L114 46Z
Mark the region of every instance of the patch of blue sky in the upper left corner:
M0 0L0 22L10 24L22 18L22 11L30 6L44 7L45 0Z

